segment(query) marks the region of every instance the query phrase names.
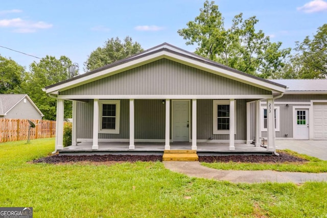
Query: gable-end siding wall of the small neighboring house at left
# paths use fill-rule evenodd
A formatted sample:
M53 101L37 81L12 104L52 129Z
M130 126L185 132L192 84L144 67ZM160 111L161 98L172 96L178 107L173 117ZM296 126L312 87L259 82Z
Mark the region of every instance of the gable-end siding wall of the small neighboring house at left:
M22 99L6 116L3 116L3 118L42 119L42 116L28 99L26 99L26 103L24 103L24 99Z

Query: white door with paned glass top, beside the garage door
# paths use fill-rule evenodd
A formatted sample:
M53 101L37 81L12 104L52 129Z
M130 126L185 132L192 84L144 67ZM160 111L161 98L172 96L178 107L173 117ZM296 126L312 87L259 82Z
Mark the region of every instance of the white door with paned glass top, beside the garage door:
M309 139L309 110L295 109L295 135L296 139Z

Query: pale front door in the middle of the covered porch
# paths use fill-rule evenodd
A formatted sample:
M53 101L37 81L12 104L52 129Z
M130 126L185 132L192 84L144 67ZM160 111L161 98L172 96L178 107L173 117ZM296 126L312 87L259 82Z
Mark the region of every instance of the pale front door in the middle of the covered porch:
M173 141L189 141L190 101L173 101Z

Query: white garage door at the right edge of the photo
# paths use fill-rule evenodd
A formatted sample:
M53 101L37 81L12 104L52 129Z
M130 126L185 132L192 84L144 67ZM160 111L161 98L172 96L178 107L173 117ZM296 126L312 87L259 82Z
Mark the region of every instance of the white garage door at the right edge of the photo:
M327 140L327 103L314 103L314 139Z

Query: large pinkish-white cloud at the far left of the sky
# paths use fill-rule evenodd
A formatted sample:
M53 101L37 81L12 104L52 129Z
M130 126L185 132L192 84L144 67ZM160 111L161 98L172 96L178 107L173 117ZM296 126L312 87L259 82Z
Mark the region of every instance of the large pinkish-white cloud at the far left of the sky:
M21 18L0 20L0 28L13 28L15 33L34 33L39 29L49 29L52 26L52 24L43 21L31 21Z

